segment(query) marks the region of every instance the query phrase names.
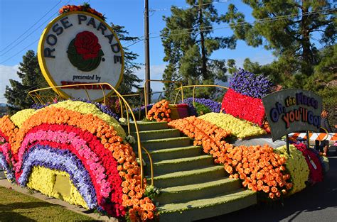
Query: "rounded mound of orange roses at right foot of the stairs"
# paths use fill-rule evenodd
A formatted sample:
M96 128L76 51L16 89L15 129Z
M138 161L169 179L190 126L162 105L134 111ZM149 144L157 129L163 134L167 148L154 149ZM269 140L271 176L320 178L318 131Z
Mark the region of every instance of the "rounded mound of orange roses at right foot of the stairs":
M278 199L291 189L290 174L286 172L286 158L274 153L268 145L263 147L226 144L225 170L232 178L242 179L242 185L255 192Z

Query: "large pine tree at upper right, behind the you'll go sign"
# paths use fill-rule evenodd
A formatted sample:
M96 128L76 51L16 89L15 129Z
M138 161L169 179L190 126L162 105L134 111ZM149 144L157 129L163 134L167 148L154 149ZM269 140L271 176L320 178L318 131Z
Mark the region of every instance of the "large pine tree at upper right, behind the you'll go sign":
M335 44L336 9L326 0L242 1L252 8L257 21L245 23L245 16L231 4L224 20L230 22L235 36L247 45L273 50L278 58L273 68L279 70L274 79L283 79L288 87L306 86L319 64L314 38L323 47Z

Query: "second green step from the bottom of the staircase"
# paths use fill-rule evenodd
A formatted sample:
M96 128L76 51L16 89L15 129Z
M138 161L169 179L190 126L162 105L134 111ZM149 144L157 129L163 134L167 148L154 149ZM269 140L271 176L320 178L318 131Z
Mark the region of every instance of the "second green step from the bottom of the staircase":
M193 199L203 199L206 196L216 196L227 192L240 189L239 179L224 177L209 182L199 184L189 184L185 186L167 187L161 189L159 196L156 196L155 202L161 205L169 203L179 203L192 201Z

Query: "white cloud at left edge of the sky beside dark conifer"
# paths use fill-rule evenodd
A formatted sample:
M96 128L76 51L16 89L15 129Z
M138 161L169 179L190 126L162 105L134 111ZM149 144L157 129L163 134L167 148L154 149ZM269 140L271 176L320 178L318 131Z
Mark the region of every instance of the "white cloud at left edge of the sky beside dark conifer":
M18 65L0 65L0 103L7 103L7 100L4 97L4 93L6 85L9 85L9 79L21 80L16 72L18 72Z

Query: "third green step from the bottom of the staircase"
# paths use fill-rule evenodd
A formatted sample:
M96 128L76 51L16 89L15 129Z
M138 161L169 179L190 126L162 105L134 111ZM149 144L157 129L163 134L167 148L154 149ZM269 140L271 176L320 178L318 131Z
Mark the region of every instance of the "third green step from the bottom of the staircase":
M154 177L154 186L158 188L197 184L225 177L223 166L205 167L198 170L172 172Z

